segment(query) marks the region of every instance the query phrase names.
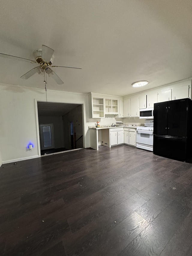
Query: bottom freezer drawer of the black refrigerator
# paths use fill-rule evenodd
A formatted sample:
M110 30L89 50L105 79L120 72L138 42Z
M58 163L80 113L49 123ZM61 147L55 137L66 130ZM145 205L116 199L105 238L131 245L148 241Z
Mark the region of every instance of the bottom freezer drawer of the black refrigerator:
M155 155L186 161L187 138L154 135L153 153Z

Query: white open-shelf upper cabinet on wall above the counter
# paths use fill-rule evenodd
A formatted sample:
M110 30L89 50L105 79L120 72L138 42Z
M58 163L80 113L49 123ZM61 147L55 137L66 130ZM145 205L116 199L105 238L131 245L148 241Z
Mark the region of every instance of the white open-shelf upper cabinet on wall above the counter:
M91 118L104 118L105 115L121 116L122 109L119 114L119 101L122 102L123 97L90 92Z

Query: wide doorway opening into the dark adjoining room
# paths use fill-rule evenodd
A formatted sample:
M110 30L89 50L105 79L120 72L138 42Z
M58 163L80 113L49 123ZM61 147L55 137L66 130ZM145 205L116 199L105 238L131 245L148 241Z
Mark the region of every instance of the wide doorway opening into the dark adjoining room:
M83 148L82 104L37 102L41 155Z

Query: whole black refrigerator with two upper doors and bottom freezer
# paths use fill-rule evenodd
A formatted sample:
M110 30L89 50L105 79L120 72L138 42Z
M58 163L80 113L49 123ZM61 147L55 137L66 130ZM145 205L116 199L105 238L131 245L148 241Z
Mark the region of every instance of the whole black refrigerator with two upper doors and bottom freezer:
M179 161L192 158L192 101L154 104L153 153Z

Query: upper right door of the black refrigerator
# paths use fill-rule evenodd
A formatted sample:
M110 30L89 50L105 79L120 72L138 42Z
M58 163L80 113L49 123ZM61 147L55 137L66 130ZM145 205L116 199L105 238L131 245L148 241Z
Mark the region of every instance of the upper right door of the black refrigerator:
M189 99L169 101L168 133L170 136L187 137L187 107Z

